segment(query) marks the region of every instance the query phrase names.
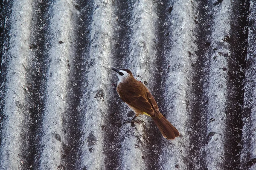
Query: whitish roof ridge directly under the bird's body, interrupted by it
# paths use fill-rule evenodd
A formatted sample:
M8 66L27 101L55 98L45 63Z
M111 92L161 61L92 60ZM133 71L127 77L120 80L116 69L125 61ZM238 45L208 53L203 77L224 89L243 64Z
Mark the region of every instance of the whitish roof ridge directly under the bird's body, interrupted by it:
M157 25L156 6L151 0L140 0L134 3L132 17L133 20L129 23L132 30L130 55L128 57L128 69L132 71L137 80L147 81L151 79L149 69L152 61L156 58L153 40L156 38L155 26ZM148 87L150 88L150 87ZM125 109L130 111L128 107ZM124 113L125 114L125 113ZM128 170L143 170L147 169L147 165L143 159L143 149L145 146L145 127L148 127L148 121L151 118L145 115L139 116L143 123L135 123L136 128L131 128L131 124L125 124L125 128L121 132L126 132L126 138L122 142L122 169ZM159 131L160 133L160 131ZM139 137L135 137L139 136Z

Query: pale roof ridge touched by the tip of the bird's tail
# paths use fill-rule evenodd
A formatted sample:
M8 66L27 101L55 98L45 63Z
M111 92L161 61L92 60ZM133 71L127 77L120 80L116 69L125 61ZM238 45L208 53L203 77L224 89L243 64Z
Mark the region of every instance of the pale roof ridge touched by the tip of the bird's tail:
M171 6L171 4L169 4ZM166 50L164 58L169 64L165 88L166 93L165 106L167 108L167 116L172 125L180 132L180 137L172 141L163 141L163 154L160 156L161 167L163 170L176 169L176 165L180 169L187 169L186 151L189 150L188 137L188 116L189 111L186 106L186 100L189 100L188 94L189 84L191 84L191 60L188 51L195 53L197 46L195 45L195 22L190 16L196 16L197 4L187 0L177 0L173 3L172 15L167 17L170 27L169 42L171 50ZM169 24L170 25L170 24Z

